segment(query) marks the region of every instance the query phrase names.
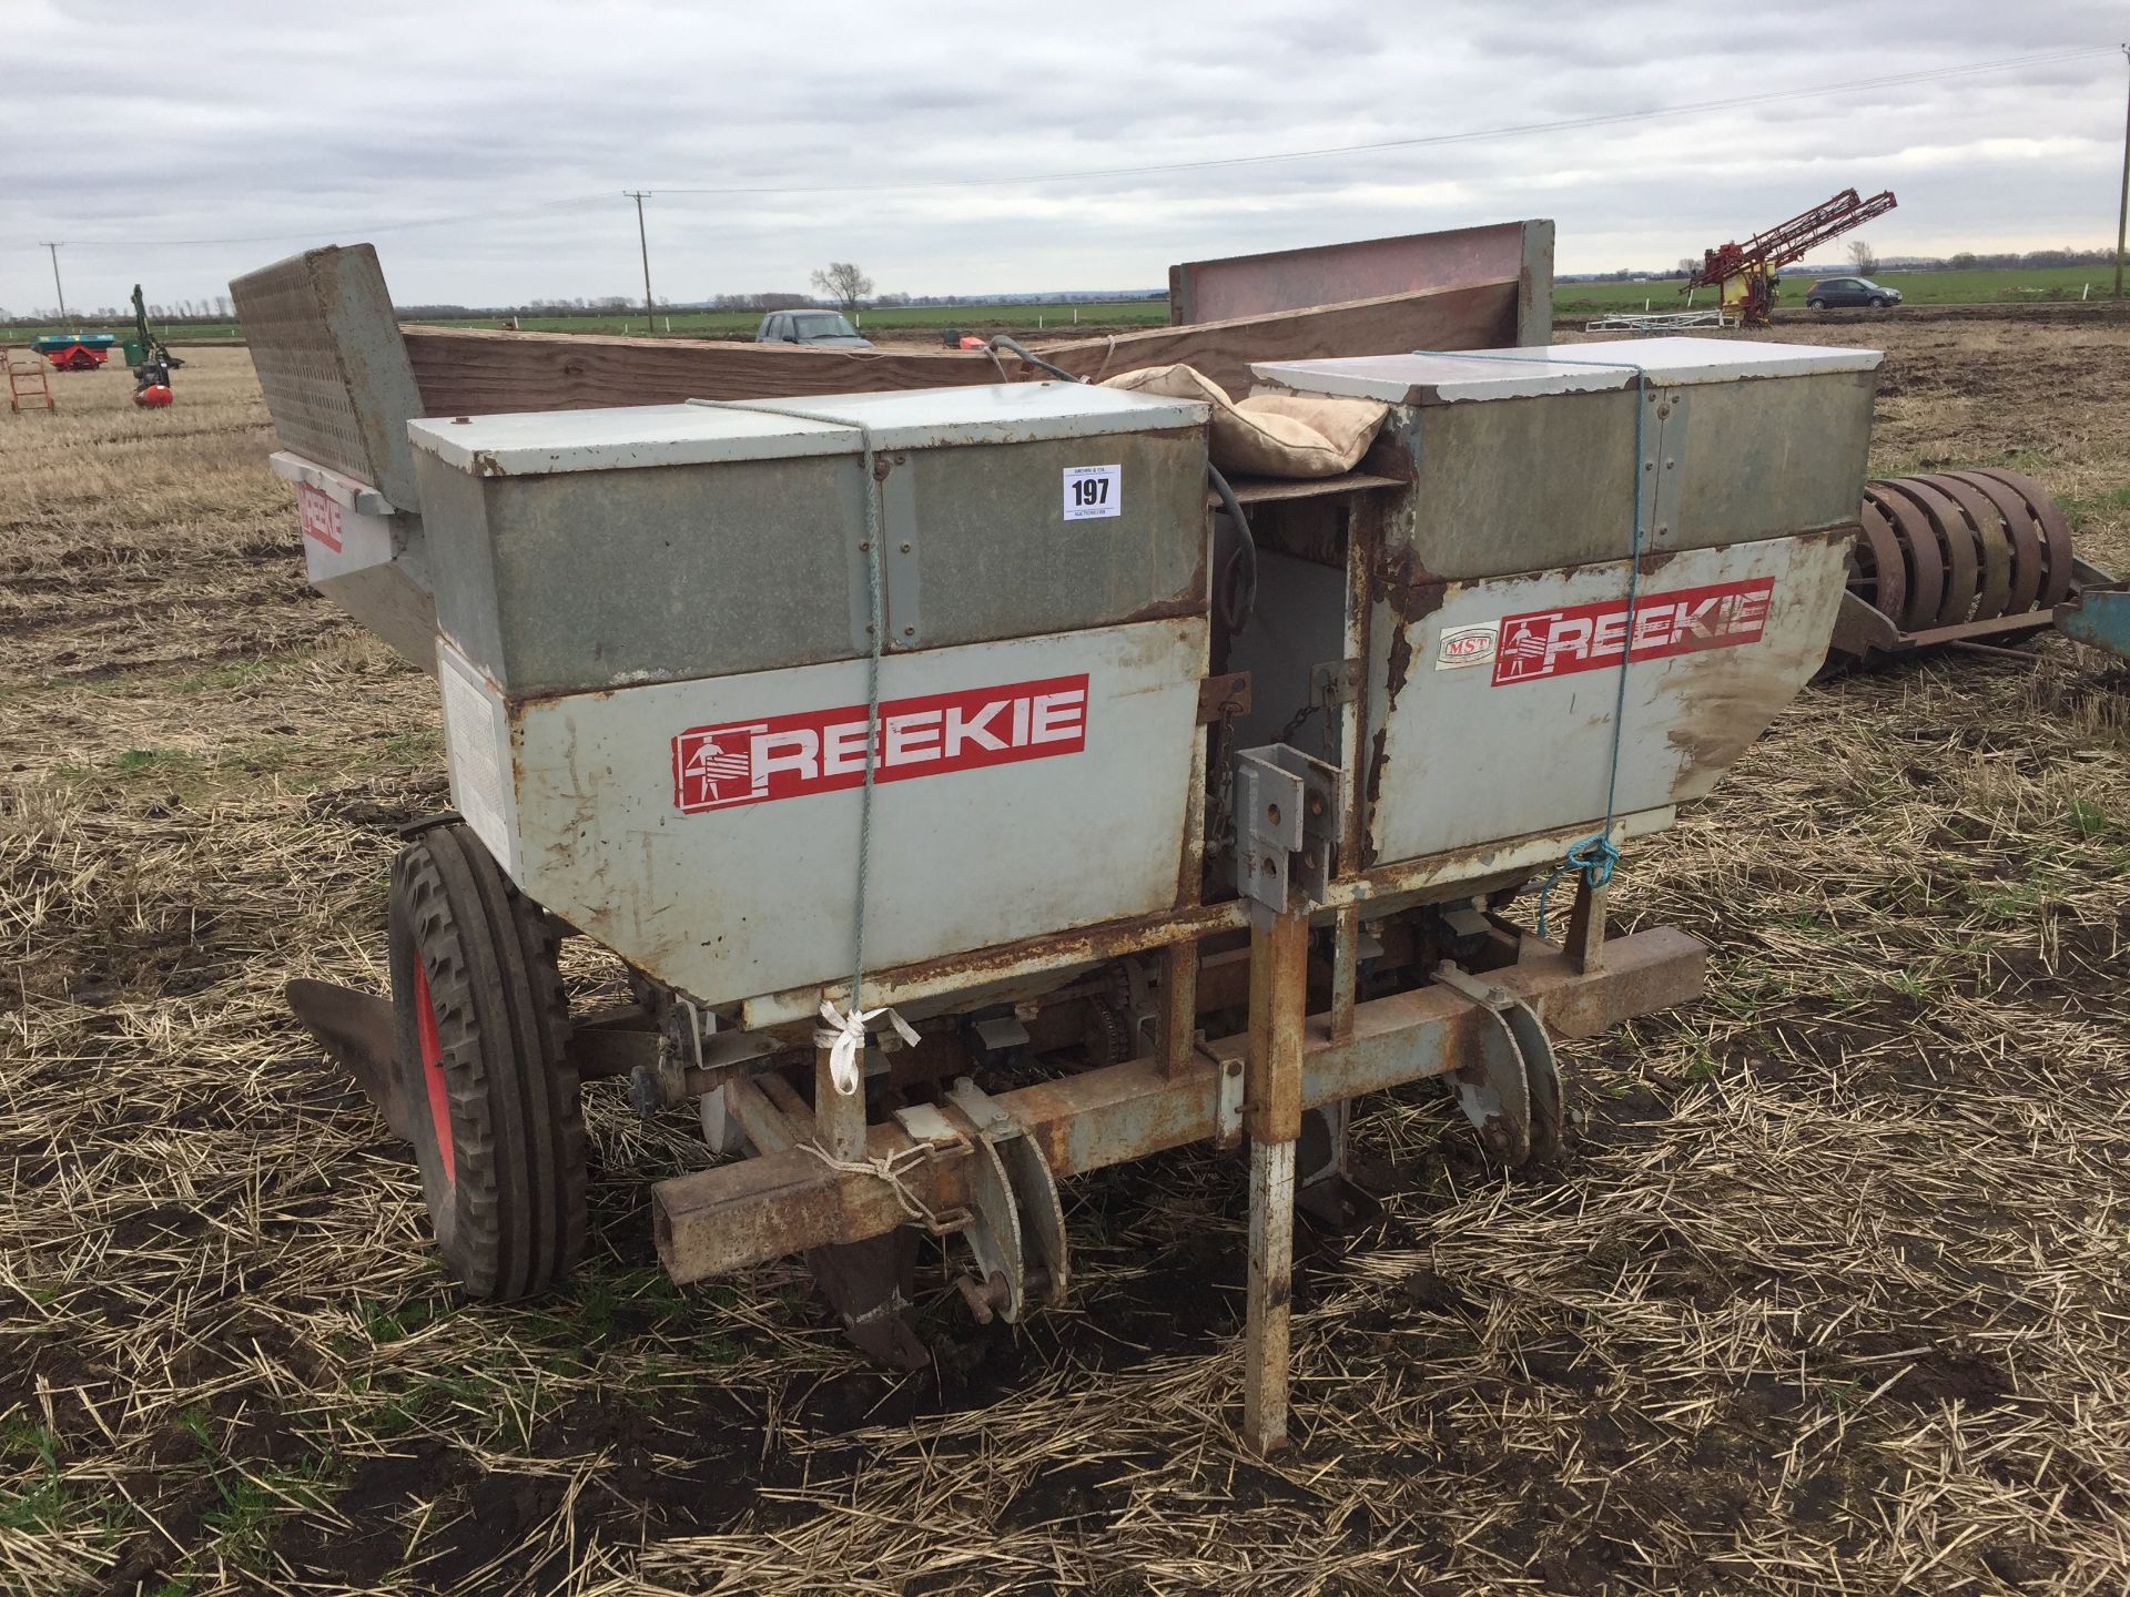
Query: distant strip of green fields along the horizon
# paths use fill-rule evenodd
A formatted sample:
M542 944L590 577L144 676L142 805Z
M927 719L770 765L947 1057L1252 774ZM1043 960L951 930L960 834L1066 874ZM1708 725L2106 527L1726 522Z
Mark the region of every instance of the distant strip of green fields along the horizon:
M1785 277L1783 304L1802 307L1804 290L1813 279ZM1906 304L2034 304L2077 300L2092 287L2092 298L2107 298L2113 292L2115 275L2107 266L2034 266L1972 273L1879 273L1877 281L1898 287ZM1693 296L1698 304L1708 302L1708 294ZM1553 311L1566 317L1606 315L1612 311L1642 309L1678 311L1687 307L1676 279L1646 283L1559 283L1553 290ZM1074 319L1078 313L1078 322ZM690 339L746 339L760 324L760 311L673 311L660 313L658 334L673 332ZM861 313L865 332L912 332L924 328L967 328L971 332L1012 332L1059 336L1071 332L1114 332L1116 328L1148 328L1169 319L1167 300L1105 300L1097 304L916 304L903 309L880 309ZM501 328L503 317L439 317L439 326L458 328ZM641 334L643 313L637 315L526 315L518 319L526 332L635 332ZM0 341L28 343L30 339L58 332L55 326L9 324L0 328ZM130 322L83 322L87 332L132 332ZM175 343L194 339L241 339L243 330L234 322L170 322L164 336Z

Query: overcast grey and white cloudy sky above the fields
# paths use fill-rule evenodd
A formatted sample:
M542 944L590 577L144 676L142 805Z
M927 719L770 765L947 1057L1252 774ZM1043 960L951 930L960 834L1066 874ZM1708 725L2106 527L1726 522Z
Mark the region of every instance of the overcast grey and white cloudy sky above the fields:
M1154 287L1512 217L1559 224L1563 273L1668 266L1849 185L1900 196L1881 256L2100 247L2119 51L1885 79L2124 36L2124 0L0 0L0 307L53 304L43 238L72 307L364 238L403 304L637 296L624 187L662 190L675 300L803 290L831 258L882 292Z

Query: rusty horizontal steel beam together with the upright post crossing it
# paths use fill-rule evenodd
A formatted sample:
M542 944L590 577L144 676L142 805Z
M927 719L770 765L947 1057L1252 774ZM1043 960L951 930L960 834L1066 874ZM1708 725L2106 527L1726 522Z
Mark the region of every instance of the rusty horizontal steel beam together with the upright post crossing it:
M1242 1035L988 1099L1042 1154L1050 1175L1065 1178L1218 1141L1233 1082L1244 1080L1242 1122L1252 1146L1244 1356L1246 1393L1255 1393L1246 1399L1244 1429L1261 1448L1284 1435L1287 1258L1301 1112L1451 1075L1476 1056L1495 1020L1487 1001L1442 984L1367 1003L1355 1003L1348 988L1331 1009L1304 1014L1306 950L1308 918L1299 911L1252 933L1250 1028ZM1587 1037L1695 999L1704 971L1706 948L1666 926L1612 939L1604 960L1580 971L1570 954L1523 937L1517 962L1491 971L1487 982L1529 1005L1555 1035ZM1333 1020L1340 1009L1348 1016L1344 1035ZM820 1101L854 1103L833 1090ZM954 1094L939 1116L954 1141L920 1139L907 1122L890 1120L867 1126L863 1148L831 1150L826 1158L792 1146L658 1182L652 1229L660 1263L686 1284L805 1248L884 1235L912 1220L912 1203L933 1216L967 1209L969 1150L982 1141L982 1129Z

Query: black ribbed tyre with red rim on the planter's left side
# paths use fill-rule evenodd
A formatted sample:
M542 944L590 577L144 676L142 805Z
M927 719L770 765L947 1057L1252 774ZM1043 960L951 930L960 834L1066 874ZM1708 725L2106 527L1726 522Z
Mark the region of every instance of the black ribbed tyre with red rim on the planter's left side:
M422 1195L469 1297L520 1299L584 1256L584 1107L547 918L460 822L392 860L394 1069Z

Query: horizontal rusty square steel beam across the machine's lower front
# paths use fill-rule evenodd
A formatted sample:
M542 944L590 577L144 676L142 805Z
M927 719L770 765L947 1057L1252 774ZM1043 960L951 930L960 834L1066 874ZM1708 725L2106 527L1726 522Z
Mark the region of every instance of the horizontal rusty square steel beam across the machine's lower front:
M1578 973L1566 952L1525 937L1519 960L1487 977L1538 1009L1553 1033L1587 1037L1695 999L1706 956L1687 933L1659 926L1610 939L1604 960ZM1442 986L1357 1003L1344 1039L1331 1035L1329 1014L1308 1016L1297 1109L1446 1075L1476 1043L1485 1018L1485 1009ZM1022 1086L995 1101L1027 1131L1052 1175L1080 1175L1212 1141L1220 1080L1229 1063L1248 1069L1250 1058L1248 1035L1223 1037L1193 1048L1180 1063L1142 1056ZM954 1118L956 1112L946 1114ZM916 1148L895 1122L867 1126L867 1160L907 1160ZM933 1212L967 1203L965 1173L954 1156L933 1156L910 1169L899 1163L897 1169L901 1188ZM907 1218L888 1180L867 1169L835 1169L799 1148L652 1186L658 1258L682 1284L805 1248L878 1237Z

